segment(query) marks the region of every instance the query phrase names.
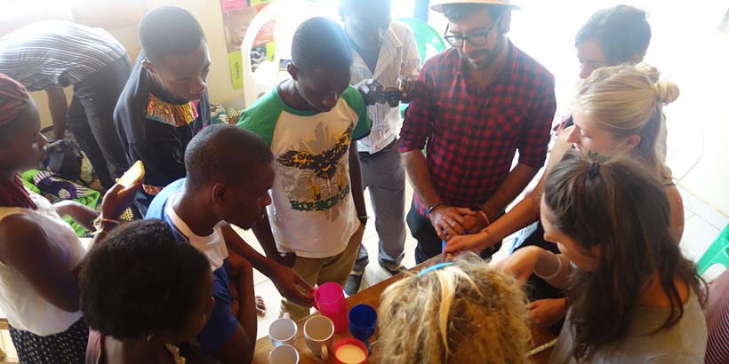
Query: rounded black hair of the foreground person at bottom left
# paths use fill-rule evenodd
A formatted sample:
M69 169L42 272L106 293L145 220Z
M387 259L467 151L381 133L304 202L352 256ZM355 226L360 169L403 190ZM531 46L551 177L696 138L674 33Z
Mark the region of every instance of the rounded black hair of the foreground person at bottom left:
M210 271L203 253L160 220L132 221L97 243L80 280L89 327L118 340L184 327Z

